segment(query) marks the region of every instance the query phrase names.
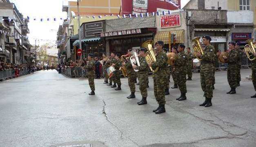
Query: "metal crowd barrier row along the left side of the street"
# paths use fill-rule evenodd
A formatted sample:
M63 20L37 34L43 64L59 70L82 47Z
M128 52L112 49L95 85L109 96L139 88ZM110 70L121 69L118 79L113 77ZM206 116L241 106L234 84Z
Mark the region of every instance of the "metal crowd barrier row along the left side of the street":
M0 71L0 81L19 77L22 75L27 75L27 74L29 74L29 71L27 68L19 71L15 69L3 70L3 71Z

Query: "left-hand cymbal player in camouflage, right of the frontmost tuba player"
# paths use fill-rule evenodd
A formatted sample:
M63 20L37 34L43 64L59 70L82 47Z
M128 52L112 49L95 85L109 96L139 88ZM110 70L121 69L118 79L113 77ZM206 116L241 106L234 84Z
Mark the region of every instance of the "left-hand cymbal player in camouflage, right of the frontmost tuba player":
M180 44L178 46L178 58L174 62L174 66L176 68L177 73L177 81L178 81L178 88L180 89L180 97L176 100L183 101L186 100L186 93L187 93L187 86L186 86L186 75L187 75L187 55L184 52L185 46ZM171 57L171 60L174 61L174 58Z

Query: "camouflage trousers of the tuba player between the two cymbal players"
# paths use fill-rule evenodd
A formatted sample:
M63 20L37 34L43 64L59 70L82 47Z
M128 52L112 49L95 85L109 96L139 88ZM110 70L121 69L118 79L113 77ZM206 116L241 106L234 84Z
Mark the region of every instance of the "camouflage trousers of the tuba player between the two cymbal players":
M205 92L204 96L211 99L213 97L213 82L214 82L214 72L213 72L213 66L211 64L206 67L201 66L200 81L201 81L201 88L203 92Z

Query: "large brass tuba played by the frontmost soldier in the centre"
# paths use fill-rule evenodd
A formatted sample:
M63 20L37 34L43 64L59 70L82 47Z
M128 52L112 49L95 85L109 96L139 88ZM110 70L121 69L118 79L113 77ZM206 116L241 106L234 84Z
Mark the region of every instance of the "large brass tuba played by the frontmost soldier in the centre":
M147 61L147 64L152 64L153 62L156 61L156 55L155 55L155 52L154 52L154 49L156 48L153 48L152 47L152 44L153 44L153 40L147 40L146 42L144 42L142 44L142 47L143 48L147 48L147 52L146 52L146 61ZM158 71L158 67L156 69L153 69L151 66L149 66L150 70L155 73Z

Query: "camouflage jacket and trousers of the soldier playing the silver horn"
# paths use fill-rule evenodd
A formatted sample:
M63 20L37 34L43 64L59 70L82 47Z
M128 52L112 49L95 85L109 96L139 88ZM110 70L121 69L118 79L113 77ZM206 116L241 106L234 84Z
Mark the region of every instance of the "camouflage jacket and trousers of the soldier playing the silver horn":
M139 70L137 75L140 82L140 93L142 97L147 97L147 81L148 81L148 64L145 57L140 58L140 66L137 66L136 70Z

